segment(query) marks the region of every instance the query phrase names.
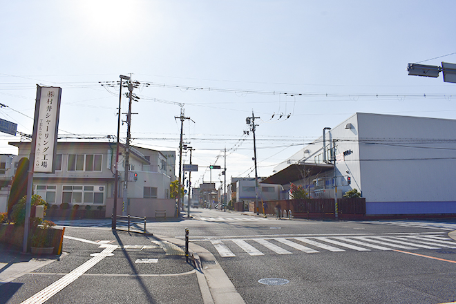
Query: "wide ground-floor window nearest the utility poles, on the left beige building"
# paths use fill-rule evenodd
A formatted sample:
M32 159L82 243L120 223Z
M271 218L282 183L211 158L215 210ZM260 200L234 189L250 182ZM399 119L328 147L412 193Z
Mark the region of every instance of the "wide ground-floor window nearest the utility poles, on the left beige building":
M103 186L64 186L61 202L69 204L103 205Z

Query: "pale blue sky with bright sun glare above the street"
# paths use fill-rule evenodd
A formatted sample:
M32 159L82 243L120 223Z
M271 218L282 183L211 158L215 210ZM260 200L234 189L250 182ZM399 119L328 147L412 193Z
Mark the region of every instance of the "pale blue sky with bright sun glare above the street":
M224 167L225 149L228 181L255 175L246 124L254 113L266 177L357 112L456 120L456 84L406 70L456 63L455 8L453 0L3 1L0 118L31 134L37 84L59 86L59 140L113 141L117 81L128 75L140 82L131 144L178 151L183 113L198 164L192 184L219 187L221 171L208 167ZM120 134L125 142L126 124ZM0 153L17 154L8 142L19 140L0 133Z

